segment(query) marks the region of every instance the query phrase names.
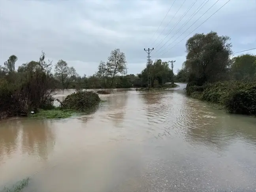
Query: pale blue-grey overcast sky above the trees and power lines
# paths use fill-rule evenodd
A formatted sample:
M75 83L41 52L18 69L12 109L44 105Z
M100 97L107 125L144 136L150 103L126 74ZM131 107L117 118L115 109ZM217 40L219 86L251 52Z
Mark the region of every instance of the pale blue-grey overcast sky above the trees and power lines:
M256 47L256 0L230 0L203 23L227 1L0 0L0 64L13 54L17 66L38 60L43 50L53 63L63 59L80 75L92 75L100 60L119 48L126 55L128 73L136 74L147 62L143 49L154 47L151 58L176 60L176 72L185 60L186 40L195 33L213 30L230 36L234 52ZM183 25L201 4L205 5Z

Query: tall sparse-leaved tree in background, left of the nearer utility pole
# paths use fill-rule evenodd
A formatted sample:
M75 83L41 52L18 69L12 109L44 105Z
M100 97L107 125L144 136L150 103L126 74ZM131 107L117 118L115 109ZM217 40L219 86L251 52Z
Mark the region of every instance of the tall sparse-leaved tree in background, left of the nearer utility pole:
M111 51L108 61L101 61L98 66L98 77L102 78L104 87L113 88L113 82L118 74L126 73L126 57L120 49Z

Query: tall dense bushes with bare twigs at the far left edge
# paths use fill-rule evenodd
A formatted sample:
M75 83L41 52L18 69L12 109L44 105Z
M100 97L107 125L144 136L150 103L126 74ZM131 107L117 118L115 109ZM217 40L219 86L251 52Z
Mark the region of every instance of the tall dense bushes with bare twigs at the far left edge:
M6 73L0 79L0 113L26 115L30 110L51 105L54 88L51 66L42 52L38 62L24 64L21 72Z

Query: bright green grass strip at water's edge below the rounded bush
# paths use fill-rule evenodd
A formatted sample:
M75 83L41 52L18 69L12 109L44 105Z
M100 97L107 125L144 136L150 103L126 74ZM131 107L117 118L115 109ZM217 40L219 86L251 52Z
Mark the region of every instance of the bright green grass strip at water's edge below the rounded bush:
M73 110L64 110L56 107L51 110L40 109L38 113L29 114L29 117L37 117L41 119L64 119L71 117L75 114Z

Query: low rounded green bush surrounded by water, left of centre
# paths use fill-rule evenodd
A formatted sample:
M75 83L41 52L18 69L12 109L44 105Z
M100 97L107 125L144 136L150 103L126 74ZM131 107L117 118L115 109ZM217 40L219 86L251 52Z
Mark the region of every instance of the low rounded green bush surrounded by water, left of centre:
M79 91L68 95L62 102L62 109L88 111L100 103L100 97L92 91Z

